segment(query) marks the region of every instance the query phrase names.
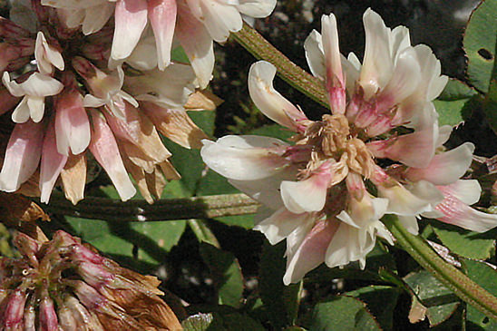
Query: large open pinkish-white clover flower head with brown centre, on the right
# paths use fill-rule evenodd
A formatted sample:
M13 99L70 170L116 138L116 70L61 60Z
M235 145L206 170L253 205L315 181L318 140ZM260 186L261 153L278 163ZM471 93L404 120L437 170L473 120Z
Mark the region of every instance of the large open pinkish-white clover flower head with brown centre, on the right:
M311 72L326 86L331 113L318 121L274 88L276 68L252 65L250 96L258 109L295 135L291 142L258 136L204 141L212 170L263 204L255 229L271 244L287 239L285 284L322 262L358 261L377 236L393 238L380 219L395 214L417 234L421 216L474 231L497 226L497 216L472 209L481 188L460 180L472 143L443 151L450 127L438 127L433 100L447 83L426 45L412 46L408 29L391 30L364 15L365 54L339 52L336 18L322 17L322 34L306 40Z

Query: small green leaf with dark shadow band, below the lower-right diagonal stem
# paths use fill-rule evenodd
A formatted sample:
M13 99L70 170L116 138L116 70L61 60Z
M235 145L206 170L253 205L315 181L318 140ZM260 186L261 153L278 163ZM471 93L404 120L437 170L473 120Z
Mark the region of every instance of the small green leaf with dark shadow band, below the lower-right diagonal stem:
M437 326L453 315L459 306L458 298L452 291L443 287L428 271L422 270L412 272L404 281L411 287L414 293L422 300L427 308L426 316L430 320L430 326Z

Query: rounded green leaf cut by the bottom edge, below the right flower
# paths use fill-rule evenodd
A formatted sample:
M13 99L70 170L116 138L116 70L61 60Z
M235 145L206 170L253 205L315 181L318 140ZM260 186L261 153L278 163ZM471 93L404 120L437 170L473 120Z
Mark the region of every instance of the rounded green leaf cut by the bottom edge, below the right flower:
M318 303L312 314L310 330L380 330L365 308L355 297L334 296Z

